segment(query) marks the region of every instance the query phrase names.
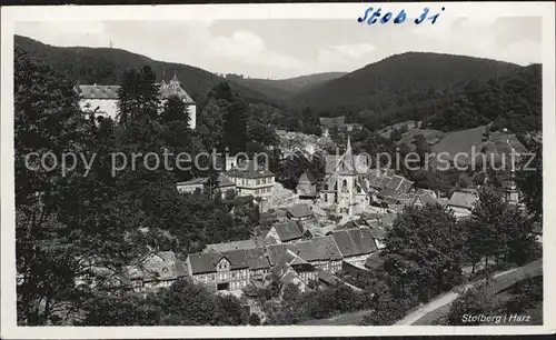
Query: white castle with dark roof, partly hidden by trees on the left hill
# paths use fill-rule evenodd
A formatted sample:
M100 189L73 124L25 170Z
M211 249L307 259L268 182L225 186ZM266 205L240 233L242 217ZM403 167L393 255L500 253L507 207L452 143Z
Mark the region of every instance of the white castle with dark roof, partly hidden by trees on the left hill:
M160 89L160 98L162 103L170 97L179 97L186 104L187 113L189 114L189 126L195 129L197 126L197 104L189 94L181 88L177 76L167 83L157 83ZM86 112L86 118L89 113L95 112L97 119L118 118L118 89L119 86L100 86L100 84L80 84L76 91L80 96L79 106Z

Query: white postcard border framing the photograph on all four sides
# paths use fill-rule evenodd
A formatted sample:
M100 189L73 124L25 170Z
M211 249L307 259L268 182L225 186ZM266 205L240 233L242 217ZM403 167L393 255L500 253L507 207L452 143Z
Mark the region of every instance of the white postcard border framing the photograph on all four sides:
M446 7L441 20L457 17L543 18L543 140L544 140L544 326L524 327L17 327L13 169L13 28L18 21L107 20L261 20L261 19L353 19L368 7L420 12L424 7ZM555 6L552 2L420 2L420 3L288 3L288 4L196 4L196 6L48 6L1 9L1 336L8 339L87 338L239 338L239 337L330 337L395 334L533 334L556 329L556 150L555 120ZM355 28L357 29L357 28ZM369 28L361 28L369 29ZM371 34L369 29L369 34ZM480 39L479 37L477 39ZM552 209L550 209L552 208Z

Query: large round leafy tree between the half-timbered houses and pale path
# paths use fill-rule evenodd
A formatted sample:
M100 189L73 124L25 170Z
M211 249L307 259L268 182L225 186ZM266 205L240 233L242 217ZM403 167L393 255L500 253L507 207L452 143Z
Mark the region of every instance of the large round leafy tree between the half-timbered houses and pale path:
M406 208L385 246L386 272L408 291L430 299L460 281L464 240L454 214L438 204Z

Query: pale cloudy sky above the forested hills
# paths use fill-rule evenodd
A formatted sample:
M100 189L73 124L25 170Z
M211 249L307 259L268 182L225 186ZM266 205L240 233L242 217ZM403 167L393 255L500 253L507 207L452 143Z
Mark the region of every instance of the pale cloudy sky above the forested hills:
M435 24L360 24L347 19L34 21L16 34L59 47L109 47L215 73L285 79L351 72L407 51L542 60L542 19L456 18Z

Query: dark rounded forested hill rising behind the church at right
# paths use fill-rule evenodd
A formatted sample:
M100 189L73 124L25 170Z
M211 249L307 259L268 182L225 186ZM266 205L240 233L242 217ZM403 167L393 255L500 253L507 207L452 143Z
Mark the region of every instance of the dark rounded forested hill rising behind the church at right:
M499 78L520 67L463 56L407 52L309 89L291 99L292 107L310 107L324 116L363 110L390 116L435 99L437 91L457 89L471 80Z

